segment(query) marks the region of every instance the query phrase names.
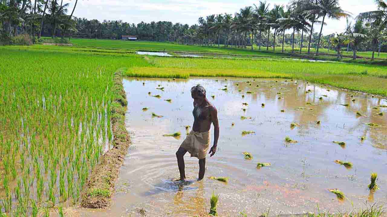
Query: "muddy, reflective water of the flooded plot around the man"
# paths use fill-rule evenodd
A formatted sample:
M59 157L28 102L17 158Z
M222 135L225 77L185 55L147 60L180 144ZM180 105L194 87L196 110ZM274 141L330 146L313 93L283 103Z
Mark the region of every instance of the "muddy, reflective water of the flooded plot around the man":
M173 181L179 177L175 152L185 138L184 126L192 126L190 88L197 83L207 89L218 109L220 138L216 155L207 156L202 181L195 181L198 160L185 155L189 183L182 185ZM209 211L212 192L220 194L221 216L240 212L258 216L268 209L269 215L295 214L314 212L317 207L345 212L352 210L351 203L361 208L366 202L387 201L387 108L378 107L387 105L383 98L279 79L128 78L123 84L129 102L126 124L133 144L111 209L94 211L93 216L140 216L143 211L147 216L195 215ZM158 85L164 91L156 89ZM224 85L227 91L221 90ZM143 107L149 110L144 112ZM363 116L356 115L358 111ZM152 117L152 112L163 117ZM381 116L380 112L386 113ZM242 115L251 119L242 120ZM292 129L292 122L298 126ZM380 126L366 125L371 122ZM163 137L178 131L180 138ZM242 131L255 134L242 136ZM211 134L213 141L212 129ZM287 143L286 136L298 142ZM245 160L244 151L252 153L253 159ZM350 161L353 167L336 164L336 159ZM257 169L258 162L272 165ZM373 195L367 188L371 172L378 173L380 188ZM227 176L229 181L208 176ZM347 199L338 200L329 188L338 188Z

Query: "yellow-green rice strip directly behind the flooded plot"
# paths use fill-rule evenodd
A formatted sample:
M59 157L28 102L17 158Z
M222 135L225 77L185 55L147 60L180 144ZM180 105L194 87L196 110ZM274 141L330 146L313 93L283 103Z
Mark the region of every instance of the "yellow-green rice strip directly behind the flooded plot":
M269 59L210 59L149 57L156 68L131 68L128 76L233 76L253 78L295 78L315 83L387 95L385 66L321 63Z

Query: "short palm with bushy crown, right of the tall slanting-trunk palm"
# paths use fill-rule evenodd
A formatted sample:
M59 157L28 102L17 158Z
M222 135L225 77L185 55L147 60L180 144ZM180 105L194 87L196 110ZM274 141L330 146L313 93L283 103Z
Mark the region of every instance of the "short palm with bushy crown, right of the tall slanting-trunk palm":
M357 47L367 39L367 29L363 20L358 19L355 24L352 25L347 18L346 35L353 46L353 59L356 59Z

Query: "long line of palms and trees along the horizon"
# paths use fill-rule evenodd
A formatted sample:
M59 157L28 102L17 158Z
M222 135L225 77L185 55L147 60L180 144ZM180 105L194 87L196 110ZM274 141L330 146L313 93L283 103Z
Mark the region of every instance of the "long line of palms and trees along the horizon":
M68 4L63 0L0 0L2 34L9 37L30 34L33 37L50 35L98 39L121 39L122 35L135 35L140 40L171 41L202 46L243 47L255 44L258 49L273 51L277 47L291 46L291 52L302 48L332 47L337 57L342 49L351 49L353 58L356 51L382 48L386 37L387 3L374 0L378 10L353 15L343 10L339 0L291 0L286 6L270 5L259 1L252 6L241 8L234 15L212 14L199 17L198 24L188 25L168 21L140 22L130 24L122 20L87 20L73 16L75 6L68 13ZM349 22L350 17L354 21ZM323 36L327 19L347 19L342 32ZM318 32L316 33L315 30ZM290 34L286 33L290 32ZM265 47L265 48L262 48ZM296 48L298 47L298 48ZM386 46L384 46L386 47ZM386 47L387 48L387 47ZM374 57L374 55L372 55Z

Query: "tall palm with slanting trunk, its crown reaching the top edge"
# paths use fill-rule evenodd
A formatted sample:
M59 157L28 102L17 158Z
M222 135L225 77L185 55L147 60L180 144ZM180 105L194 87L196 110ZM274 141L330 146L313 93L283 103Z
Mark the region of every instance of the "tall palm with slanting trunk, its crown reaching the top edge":
M318 14L322 17L321 29L319 34L319 39L317 42L316 56L319 55L319 45L322 36L322 27L324 27L325 17L330 19L339 20L343 17L348 17L349 13L342 10L339 6L339 0L318 0L318 1L308 1L304 0L306 10L312 14Z

